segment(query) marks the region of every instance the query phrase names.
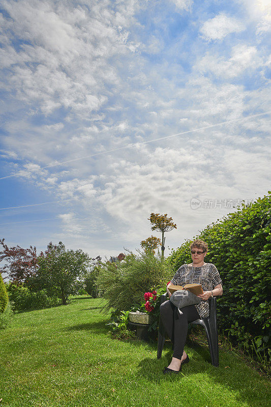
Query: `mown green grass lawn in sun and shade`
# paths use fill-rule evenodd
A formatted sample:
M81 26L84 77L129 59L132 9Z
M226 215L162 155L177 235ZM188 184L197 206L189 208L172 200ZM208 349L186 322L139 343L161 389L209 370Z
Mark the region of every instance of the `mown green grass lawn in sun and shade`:
M220 351L209 363L204 346L186 346L191 362L165 376L171 358L156 343L114 340L101 300L18 313L0 331L0 402L9 407L266 407L270 383L241 358Z

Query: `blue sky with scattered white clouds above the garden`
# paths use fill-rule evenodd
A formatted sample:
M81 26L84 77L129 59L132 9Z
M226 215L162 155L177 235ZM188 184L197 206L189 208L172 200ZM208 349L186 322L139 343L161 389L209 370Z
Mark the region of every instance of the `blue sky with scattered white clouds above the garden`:
M115 255L156 212L176 248L270 189L267 0L3 0L0 13L8 245Z

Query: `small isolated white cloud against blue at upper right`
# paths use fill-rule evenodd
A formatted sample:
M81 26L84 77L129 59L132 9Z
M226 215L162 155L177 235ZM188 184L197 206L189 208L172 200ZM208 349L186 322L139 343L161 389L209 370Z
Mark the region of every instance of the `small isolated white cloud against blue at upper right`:
M224 13L205 21L200 28L200 32L206 40L222 40L228 34L240 33L244 30L245 25L242 21L228 17Z

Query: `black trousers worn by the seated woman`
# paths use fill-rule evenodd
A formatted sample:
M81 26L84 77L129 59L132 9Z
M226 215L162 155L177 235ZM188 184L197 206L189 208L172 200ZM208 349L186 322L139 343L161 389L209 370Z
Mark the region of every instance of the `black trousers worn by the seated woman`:
M166 333L174 344L173 358L182 359L186 343L188 323L200 318L195 305L188 305L178 309L170 301L165 301L160 306L160 315Z

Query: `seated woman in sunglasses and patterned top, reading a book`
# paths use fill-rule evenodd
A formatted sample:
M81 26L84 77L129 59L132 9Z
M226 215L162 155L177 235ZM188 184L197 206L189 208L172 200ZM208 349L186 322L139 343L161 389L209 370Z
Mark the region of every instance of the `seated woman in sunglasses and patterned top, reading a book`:
M182 365L189 362L189 357L184 351L186 343L188 324L195 319L203 318L209 314L208 299L210 297L222 296L222 280L215 265L204 263L208 249L207 243L202 240L195 240L190 245L192 263L181 266L168 286L185 284L201 284L203 294L200 294L202 300L199 304L189 305L178 310L171 301L165 301L160 307L160 315L166 333L171 339L173 345L173 357L163 370L163 373L178 373ZM171 296L167 287L169 298Z

